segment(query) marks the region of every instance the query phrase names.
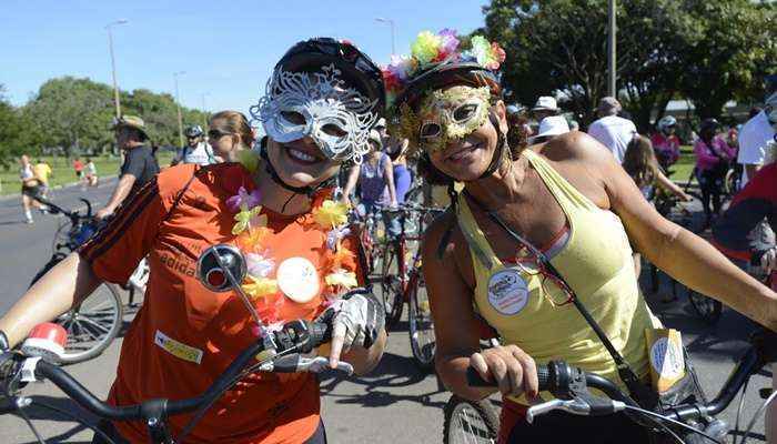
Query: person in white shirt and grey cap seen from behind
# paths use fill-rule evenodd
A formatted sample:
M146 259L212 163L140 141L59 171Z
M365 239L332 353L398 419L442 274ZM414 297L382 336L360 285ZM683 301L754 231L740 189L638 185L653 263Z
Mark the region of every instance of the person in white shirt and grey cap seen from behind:
M628 142L637 133L637 127L634 125L634 122L617 115L622 109L617 99L613 97L602 98L596 110L601 119L588 127L588 135L607 147L618 163L623 163Z

